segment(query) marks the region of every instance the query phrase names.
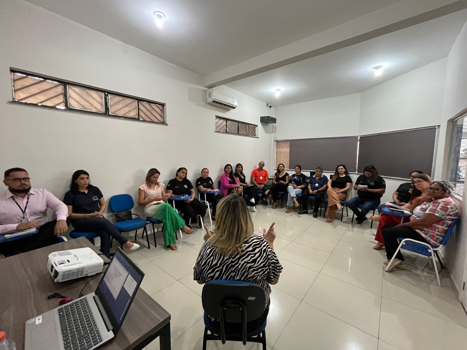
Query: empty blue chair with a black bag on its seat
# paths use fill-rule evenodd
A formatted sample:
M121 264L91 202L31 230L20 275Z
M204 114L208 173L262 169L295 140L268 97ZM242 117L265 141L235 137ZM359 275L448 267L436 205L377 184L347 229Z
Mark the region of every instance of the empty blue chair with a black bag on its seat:
M128 194L122 195L115 195L110 197L109 200L110 210L113 213L120 213L127 210L132 210L134 207L133 198ZM135 219L125 220L116 222L114 225L120 232L134 232L134 239L136 239L136 235L138 234L139 229L143 229L143 234L141 238L144 238L144 234L146 234L146 240L148 242L148 249L151 249L149 245L149 237L148 231L146 230L146 225L148 224L146 220L140 218L138 214L131 213L131 215L137 216ZM156 236L154 237L154 241L156 242Z

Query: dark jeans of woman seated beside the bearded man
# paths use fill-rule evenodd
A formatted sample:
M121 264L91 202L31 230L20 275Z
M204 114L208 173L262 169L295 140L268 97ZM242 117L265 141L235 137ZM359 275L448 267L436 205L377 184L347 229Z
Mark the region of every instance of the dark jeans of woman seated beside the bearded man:
M120 235L120 231L105 217L85 217L72 220L71 224L76 231L96 232L100 237L100 251L104 254L110 253L110 236L120 245L128 242L127 238Z

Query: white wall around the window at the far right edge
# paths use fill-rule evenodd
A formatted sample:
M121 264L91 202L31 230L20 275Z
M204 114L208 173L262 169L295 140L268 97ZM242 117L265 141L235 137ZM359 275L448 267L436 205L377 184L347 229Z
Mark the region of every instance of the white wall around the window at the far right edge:
M457 40L454 42L453 48L447 57L446 70L446 86L444 93L444 102L442 110L442 132L440 136L440 154L444 151L444 160L439 159L439 162L447 168L449 150L450 127L448 120L456 116L459 112L467 108L467 22L464 24ZM447 140L447 142L445 142ZM441 158L441 157L439 157ZM466 183L467 184L467 183ZM465 185L466 185L465 184ZM464 188L467 188L465 187ZM449 244L444 252L447 266L454 285L460 293L463 282L467 282L467 193L464 192L464 197L461 204L462 217L460 230L453 234ZM465 298L465 292L463 294ZM467 307L467 300L464 299L464 306Z

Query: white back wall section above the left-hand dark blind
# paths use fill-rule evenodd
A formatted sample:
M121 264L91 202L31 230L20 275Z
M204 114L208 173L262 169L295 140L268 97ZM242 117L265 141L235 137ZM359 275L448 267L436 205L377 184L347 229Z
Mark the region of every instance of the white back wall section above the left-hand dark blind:
M276 139L358 135L360 96L356 93L276 107ZM325 122L334 127L325 127Z

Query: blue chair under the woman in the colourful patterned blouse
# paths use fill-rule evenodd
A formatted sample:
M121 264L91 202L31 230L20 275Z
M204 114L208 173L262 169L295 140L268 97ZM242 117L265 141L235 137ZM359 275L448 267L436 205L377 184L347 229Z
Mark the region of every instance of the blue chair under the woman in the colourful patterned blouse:
M392 257L391 261L389 261L388 266L386 267L386 271L388 271L388 268L389 268L389 266L391 266L392 261L394 260L394 258L396 258L396 254L401 249L405 249L405 250L408 250L410 252L414 252L414 253L417 253L417 254L420 254L420 255L425 255L427 257L432 258L433 267L434 267L435 272L436 272L436 279L438 280L438 286L441 287L441 281L439 280L438 268L436 267L435 255L438 258L439 266L442 269L444 269L443 263L441 262L441 259L439 259L438 251L439 251L439 249L441 249L442 247L444 247L447 244L447 241L451 237L451 235L453 234L454 227L459 222L459 220L460 219L453 220L453 222L449 226L448 230L446 231L446 234L444 235L439 247L436 247L436 246L431 245L429 243L416 241L415 239L411 239L411 238L397 238L397 240L399 241L399 246L397 247L396 253Z

